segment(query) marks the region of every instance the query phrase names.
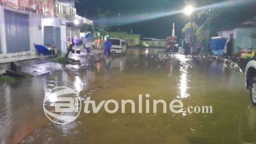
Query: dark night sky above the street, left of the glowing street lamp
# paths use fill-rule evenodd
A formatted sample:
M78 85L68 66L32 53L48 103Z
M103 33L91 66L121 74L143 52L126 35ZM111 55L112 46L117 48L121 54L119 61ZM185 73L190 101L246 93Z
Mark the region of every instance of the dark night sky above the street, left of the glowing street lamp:
M92 20L99 20L99 12L104 14L107 12L106 18L118 17L120 12L121 19L125 19L126 15L140 15L141 13L150 12L157 14L157 12L161 11L182 10L184 8L184 0L77 0L76 8L79 15ZM256 16L255 10L253 14ZM183 13L178 13L125 24L120 26L120 29L121 31L130 31L132 28L133 33L140 33L144 37L166 38L166 36L171 35L172 22L175 22L176 35L180 37L181 29L189 20L189 17ZM115 31L118 26L111 26L110 28Z

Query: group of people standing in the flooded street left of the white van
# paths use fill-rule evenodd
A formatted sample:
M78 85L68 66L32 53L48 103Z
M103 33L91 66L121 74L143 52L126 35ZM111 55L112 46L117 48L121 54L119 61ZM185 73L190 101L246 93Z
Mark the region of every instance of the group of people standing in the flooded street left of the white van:
M86 49L87 54L89 55L91 52L91 49L94 48L95 45L95 41L93 40L93 38L81 38L82 42L83 42L83 47ZM79 49L79 43L81 42L80 38L76 35L73 38L73 42L72 42L72 38L70 38L70 35L67 36L67 45L73 44L74 43L74 47L75 50L77 51L77 49ZM96 43L97 43L97 49L98 51L100 51L102 49L102 42L104 42L101 38L97 38ZM104 42L104 55L108 55L111 56L111 46L112 43L109 40L109 38L107 38L107 40Z

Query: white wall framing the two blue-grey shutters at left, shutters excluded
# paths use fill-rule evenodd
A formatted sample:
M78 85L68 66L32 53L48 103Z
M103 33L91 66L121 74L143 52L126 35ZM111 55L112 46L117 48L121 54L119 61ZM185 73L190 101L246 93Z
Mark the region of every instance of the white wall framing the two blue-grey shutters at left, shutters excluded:
M26 52L16 52L7 54L6 31L4 24L4 9L14 12L26 13L29 15L29 50ZM44 17L38 13L24 12L0 5L0 58L20 55L35 54L35 44L44 45L44 26L54 26L61 29L61 52L67 52L67 21L58 18ZM41 28L41 29L40 29ZM79 35L80 31L75 31ZM74 33L74 34L75 34Z

